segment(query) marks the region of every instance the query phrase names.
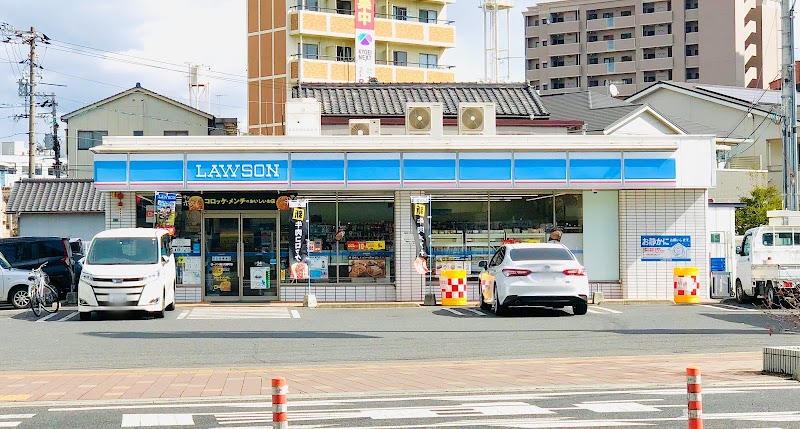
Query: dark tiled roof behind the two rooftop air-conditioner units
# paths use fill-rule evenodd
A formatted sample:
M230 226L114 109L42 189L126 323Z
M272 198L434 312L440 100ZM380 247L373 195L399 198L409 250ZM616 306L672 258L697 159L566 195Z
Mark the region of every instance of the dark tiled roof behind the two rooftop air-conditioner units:
M445 116L458 116L459 102L493 102L498 118L549 117L536 90L524 83L313 83L292 88L292 98L316 98L323 116L402 117L408 102L440 102Z

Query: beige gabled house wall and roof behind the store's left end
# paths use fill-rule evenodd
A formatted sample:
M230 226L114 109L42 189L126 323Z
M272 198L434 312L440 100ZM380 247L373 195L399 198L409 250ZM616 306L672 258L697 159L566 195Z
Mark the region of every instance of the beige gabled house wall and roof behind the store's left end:
M61 117L67 123L67 175L94 178L94 154L103 136L206 136L217 125L212 115L135 87Z

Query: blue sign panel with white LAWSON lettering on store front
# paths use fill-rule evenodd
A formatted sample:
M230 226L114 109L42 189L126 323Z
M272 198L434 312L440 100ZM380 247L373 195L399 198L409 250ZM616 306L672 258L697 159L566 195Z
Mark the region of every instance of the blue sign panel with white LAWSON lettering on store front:
M190 161L189 180L197 182L285 181L286 161Z

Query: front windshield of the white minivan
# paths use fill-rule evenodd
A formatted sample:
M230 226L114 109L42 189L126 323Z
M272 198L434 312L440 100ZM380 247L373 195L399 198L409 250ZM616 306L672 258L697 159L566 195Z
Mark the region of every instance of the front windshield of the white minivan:
M155 238L97 238L89 250L92 265L151 265L158 263Z

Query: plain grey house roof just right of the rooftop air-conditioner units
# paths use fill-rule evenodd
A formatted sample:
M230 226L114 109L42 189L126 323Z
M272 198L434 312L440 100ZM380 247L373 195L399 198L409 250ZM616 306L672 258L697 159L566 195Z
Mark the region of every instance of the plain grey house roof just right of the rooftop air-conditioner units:
M642 106L592 91L544 95L542 103L550 119L584 121L587 132L603 131Z

